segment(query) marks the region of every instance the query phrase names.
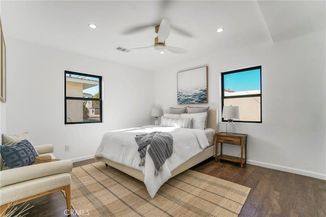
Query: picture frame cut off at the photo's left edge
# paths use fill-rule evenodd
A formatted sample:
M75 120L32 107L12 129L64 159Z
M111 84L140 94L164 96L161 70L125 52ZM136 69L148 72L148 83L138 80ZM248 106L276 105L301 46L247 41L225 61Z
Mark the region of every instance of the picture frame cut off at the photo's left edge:
M4 33L2 29L2 24L0 20L0 37L1 37L1 86L0 86L0 101L6 103L7 101L7 72L6 72L6 43L4 38Z

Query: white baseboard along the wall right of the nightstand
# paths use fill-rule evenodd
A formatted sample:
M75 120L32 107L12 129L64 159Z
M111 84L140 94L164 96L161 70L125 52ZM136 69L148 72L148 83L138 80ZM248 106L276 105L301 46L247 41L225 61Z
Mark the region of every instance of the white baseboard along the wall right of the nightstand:
M304 175L304 176L309 176L309 177L313 177L313 178L319 178L322 180L326 180L326 174L315 173L315 172L311 172L311 171L307 171L307 170L299 170L299 169L294 169L294 168L290 168L290 167L283 167L283 166L279 166L279 165L275 165L275 164L267 164L267 163L263 163L263 162L259 162L259 161L248 160L247 163L251 164L251 165L255 165L255 166L260 166L260 167L265 167L265 168L269 168L269 169L280 170L280 171L284 171L284 172L290 172L290 173L295 173L295 174L299 174L299 175Z

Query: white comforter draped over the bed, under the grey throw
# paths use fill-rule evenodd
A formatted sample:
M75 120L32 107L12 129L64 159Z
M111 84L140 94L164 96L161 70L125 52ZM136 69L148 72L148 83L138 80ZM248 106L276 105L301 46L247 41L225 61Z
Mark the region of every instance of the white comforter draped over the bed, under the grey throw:
M163 170L159 171L158 176L154 175L155 167L149 154L146 154L145 166L139 166L138 144L134 139L136 135L154 131L169 132L173 137L172 156L162 166ZM171 171L207 146L209 146L207 137L202 130L144 126L105 133L96 150L95 158L102 157L142 171L147 191L153 198L161 185L171 177Z

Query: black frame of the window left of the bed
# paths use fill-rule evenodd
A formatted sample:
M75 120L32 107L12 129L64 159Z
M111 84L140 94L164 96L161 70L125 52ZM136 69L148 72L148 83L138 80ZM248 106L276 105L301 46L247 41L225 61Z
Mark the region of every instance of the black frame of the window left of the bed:
M94 77L99 79L99 98L84 98L84 97L67 97L67 80L66 80L66 74L73 74L73 75L79 75L79 76L87 76L87 77ZM102 76L98 75L91 75L91 74L85 74L85 73L79 73L79 72L72 72L72 71L66 71L65 70L65 125L74 125L76 123L101 123L102 122ZM89 100L89 101L98 101L99 102L99 120L98 121L77 121L77 122L67 122L67 100Z

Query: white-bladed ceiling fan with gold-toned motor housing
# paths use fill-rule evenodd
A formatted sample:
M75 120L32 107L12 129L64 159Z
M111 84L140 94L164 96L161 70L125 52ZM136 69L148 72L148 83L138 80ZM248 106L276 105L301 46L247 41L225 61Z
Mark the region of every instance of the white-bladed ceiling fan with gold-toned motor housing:
M170 29L171 26L169 21L167 19L162 19L161 23L155 26L155 33L157 33L157 37L155 38L153 45L147 47L131 48L129 50L138 50L138 49L146 49L146 48L154 47L154 49L158 51L163 51L167 49L172 53L177 53L177 54L187 53L188 51L183 48L172 47L165 44L165 40L167 40L167 38L170 35Z

